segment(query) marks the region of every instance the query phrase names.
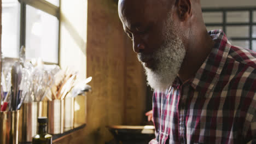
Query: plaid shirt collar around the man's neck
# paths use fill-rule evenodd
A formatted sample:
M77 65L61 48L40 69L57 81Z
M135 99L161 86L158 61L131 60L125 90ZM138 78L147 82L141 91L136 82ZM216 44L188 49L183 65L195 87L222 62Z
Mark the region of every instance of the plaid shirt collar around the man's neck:
M195 77L187 81L191 83L194 89L205 95L211 92L218 82L231 47L228 38L226 38L222 30L209 31L208 34L216 43L205 62L197 70ZM181 86L181 81L176 77L172 87L179 88L179 86Z

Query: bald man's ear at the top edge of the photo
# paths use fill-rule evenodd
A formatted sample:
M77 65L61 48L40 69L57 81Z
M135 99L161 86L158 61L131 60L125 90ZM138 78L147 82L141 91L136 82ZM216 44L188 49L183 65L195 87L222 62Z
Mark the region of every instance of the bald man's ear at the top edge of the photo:
M176 7L179 19L184 21L191 14L191 0L177 0Z

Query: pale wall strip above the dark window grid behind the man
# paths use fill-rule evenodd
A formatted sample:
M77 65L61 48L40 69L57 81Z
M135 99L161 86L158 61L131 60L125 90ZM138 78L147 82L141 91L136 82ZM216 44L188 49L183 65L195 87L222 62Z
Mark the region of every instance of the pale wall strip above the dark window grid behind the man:
M255 0L201 0L202 8L209 7L254 7Z

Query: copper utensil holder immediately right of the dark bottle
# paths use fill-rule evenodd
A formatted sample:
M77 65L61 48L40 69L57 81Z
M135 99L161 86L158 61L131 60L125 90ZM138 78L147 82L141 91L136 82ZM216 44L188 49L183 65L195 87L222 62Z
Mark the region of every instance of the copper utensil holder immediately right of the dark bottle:
M48 133L64 132L64 100L48 101Z

